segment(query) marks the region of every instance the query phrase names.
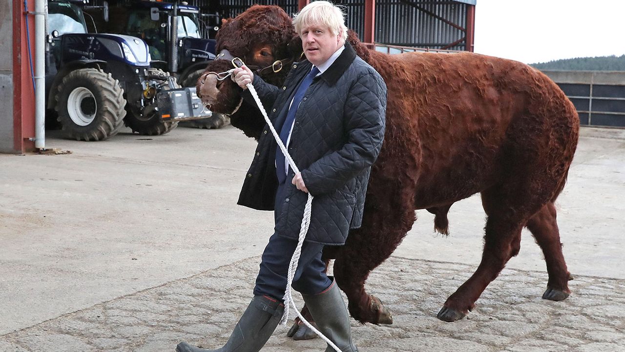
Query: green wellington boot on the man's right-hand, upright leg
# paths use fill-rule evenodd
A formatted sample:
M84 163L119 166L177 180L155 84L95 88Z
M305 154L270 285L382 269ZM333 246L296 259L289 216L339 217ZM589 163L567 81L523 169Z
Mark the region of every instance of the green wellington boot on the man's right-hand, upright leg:
M349 315L336 281L326 291L313 295L302 294L302 298L319 331L342 352L358 352L351 338ZM326 352L334 352L334 348L328 344Z

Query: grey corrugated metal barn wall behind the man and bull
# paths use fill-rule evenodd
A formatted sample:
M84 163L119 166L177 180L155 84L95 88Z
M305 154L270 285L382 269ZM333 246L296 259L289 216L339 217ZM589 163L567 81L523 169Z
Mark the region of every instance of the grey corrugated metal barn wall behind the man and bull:
M93 0L96 4L101 2ZM253 4L277 5L288 14L297 12L297 0L187 0L187 3L222 18L235 17ZM347 27L360 34L362 40L364 1L337 0L336 3L345 6ZM466 41L461 39L466 35L468 6L449 0L378 0L375 40L382 44L464 50Z

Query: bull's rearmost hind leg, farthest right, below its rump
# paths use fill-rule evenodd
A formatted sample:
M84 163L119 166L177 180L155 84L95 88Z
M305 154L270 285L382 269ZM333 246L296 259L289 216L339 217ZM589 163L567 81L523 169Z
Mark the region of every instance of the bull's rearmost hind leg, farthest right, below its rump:
M556 207L552 202L547 203L527 221L527 229L534 235L536 243L541 247L547 264L549 281L547 291L542 294L542 298L551 301L566 299L571 294L568 286L571 274L566 268L562 255L560 232L556 222Z

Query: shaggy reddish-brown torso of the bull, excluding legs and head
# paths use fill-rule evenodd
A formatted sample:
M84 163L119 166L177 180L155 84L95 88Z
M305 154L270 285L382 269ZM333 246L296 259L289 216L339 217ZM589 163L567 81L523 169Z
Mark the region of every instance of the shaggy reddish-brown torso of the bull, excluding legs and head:
M579 120L539 71L472 53L371 53L371 65L389 91L380 158L402 158L414 168L417 207L496 184L519 153L549 152L568 168Z

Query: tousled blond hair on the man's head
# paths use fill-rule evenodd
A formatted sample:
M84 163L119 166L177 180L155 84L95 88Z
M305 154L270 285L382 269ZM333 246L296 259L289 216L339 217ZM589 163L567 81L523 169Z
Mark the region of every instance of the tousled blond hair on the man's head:
M345 26L345 13L328 1L314 1L304 6L302 11L293 15L295 31L301 36L302 28L316 24L330 30L334 36L341 34L341 40L347 39L347 26Z

